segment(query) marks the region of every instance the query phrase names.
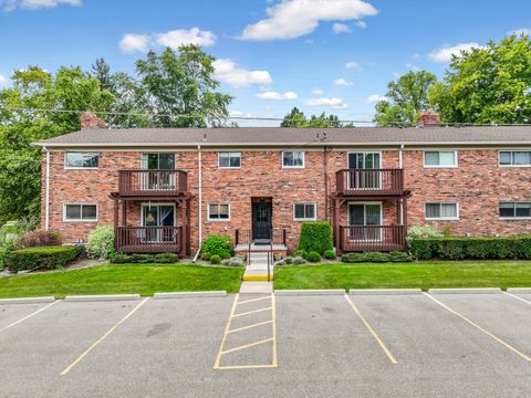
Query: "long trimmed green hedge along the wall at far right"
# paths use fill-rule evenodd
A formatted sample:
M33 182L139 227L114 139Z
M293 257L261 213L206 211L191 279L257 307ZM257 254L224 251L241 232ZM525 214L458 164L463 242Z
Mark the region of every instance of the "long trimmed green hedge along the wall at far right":
M525 260L531 259L531 235L412 239L409 251L416 260Z

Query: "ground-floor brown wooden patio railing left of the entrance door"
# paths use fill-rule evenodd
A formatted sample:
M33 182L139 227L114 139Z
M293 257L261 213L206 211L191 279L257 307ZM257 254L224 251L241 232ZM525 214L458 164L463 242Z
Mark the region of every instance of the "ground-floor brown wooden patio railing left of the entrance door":
M179 253L183 227L117 227L116 251L119 253Z

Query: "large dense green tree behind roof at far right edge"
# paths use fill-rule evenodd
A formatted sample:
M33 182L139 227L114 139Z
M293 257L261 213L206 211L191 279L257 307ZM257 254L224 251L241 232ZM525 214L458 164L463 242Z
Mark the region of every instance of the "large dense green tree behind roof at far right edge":
M509 35L455 55L430 103L447 123L530 123L529 36Z

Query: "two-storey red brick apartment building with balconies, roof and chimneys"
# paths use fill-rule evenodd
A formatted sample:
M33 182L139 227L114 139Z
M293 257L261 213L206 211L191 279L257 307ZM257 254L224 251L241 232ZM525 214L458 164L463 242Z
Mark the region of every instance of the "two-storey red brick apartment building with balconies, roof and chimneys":
M124 252L194 253L211 233L296 247L330 220L340 252L402 250L406 227L531 232L531 127L84 128L44 142L42 227Z

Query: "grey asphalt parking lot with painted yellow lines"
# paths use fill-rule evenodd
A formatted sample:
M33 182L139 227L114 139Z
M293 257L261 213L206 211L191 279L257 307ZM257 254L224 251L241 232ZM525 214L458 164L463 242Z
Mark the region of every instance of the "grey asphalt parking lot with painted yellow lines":
M0 305L1 397L530 397L531 294Z

